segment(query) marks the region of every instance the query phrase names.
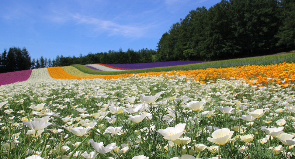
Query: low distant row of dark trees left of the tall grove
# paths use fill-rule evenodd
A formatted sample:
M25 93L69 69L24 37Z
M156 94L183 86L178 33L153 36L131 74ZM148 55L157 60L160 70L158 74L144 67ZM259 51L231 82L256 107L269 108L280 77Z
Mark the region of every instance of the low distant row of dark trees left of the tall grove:
M90 52L85 56L80 54L79 57L64 57L63 55L57 55L53 60L50 58L47 60L47 58L44 58L43 56L39 59L33 58L31 60L25 47L23 47L23 49L20 49L19 47L11 47L9 48L8 53L7 50L4 49L0 56L0 73L45 67L69 66L71 64L134 64L155 62L156 53L156 50L148 50L148 48L138 51L128 49L125 52L120 48L118 51L109 50L109 52L104 53L92 54Z

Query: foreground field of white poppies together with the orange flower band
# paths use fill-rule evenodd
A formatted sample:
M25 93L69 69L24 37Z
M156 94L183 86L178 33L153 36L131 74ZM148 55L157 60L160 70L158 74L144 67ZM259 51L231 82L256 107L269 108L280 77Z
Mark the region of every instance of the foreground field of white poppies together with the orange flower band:
M295 157L295 64L92 75L0 86L1 158Z

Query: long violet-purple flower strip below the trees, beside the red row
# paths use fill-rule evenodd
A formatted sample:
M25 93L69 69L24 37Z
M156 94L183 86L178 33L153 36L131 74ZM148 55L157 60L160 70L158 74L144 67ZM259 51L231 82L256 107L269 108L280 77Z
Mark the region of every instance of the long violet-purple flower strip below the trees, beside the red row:
M196 64L196 63L202 63L202 62L204 61L166 61L166 62L150 62L150 63L139 63L139 64L109 64L109 65L113 67L120 67L120 68L144 69L144 68L154 68L154 67Z

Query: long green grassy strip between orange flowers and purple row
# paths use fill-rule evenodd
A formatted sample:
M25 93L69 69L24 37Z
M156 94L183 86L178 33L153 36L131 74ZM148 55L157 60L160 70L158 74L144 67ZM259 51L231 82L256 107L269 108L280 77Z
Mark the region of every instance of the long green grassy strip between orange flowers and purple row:
M173 71L173 70L196 70L196 69L206 69L206 68L225 68L225 67L236 67L244 65L268 65L268 64L279 64L283 62L290 63L295 61L295 52L284 53L284 54L275 54L262 57L247 57L231 60L221 60L221 61L211 61L198 64L187 64L181 66L170 66L170 67L155 67L147 69L138 69L138 70L127 70L127 71L97 71L91 68L88 68L84 65L74 64L71 65L78 70L88 73L88 74L101 74L101 75L110 75L110 74L125 74L125 73L143 73L143 72L161 72L161 71Z

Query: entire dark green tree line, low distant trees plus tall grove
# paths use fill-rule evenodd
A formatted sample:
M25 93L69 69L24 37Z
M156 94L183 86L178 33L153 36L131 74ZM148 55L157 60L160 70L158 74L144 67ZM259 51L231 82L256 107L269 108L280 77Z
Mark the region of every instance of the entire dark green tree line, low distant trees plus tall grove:
M173 24L156 50L63 55L31 60L25 47L5 49L0 73L71 64L131 64L174 60L225 60L295 49L295 0L221 0L192 10Z

